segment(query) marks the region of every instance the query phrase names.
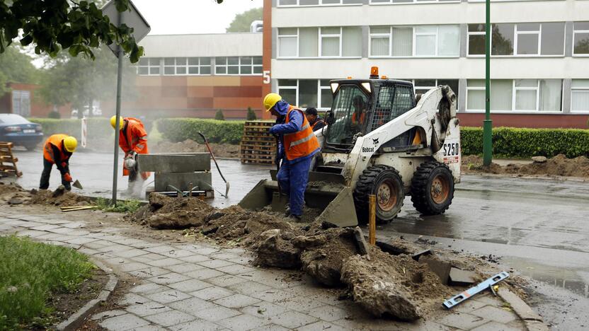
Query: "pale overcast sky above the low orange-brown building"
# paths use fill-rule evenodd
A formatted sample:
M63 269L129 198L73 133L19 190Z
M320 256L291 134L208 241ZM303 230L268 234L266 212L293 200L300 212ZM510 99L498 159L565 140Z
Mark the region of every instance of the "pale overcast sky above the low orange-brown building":
M132 0L151 25L150 35L224 33L238 13L263 5L263 0Z

